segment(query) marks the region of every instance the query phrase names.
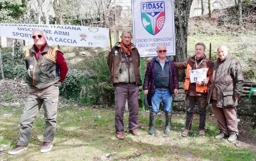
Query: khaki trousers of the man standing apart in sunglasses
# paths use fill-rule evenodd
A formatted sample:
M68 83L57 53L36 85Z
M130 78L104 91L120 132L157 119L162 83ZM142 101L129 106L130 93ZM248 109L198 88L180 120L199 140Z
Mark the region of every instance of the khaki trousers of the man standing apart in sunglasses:
M57 103L59 101L59 87L50 86L43 90L35 90L28 87L24 112L20 119L18 145L27 146L29 143L32 124L43 104L45 117L44 142L52 142L57 125Z

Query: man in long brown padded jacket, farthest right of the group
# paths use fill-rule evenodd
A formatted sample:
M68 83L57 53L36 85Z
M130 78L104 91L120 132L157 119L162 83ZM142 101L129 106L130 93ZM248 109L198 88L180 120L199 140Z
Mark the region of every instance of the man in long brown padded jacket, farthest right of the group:
M219 134L216 140L228 137L228 141L236 142L238 137L237 109L238 97L243 91L244 76L240 63L229 55L226 46L217 48L218 59L214 63L208 102L212 102L212 110L218 120Z

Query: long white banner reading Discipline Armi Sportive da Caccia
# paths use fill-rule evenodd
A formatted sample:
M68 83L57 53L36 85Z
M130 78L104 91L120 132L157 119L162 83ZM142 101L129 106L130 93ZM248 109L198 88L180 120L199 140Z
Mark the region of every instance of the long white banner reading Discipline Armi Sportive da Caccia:
M44 30L47 43L106 48L109 39L109 29L73 25L48 24L0 24L0 36L14 39L33 40L32 31Z

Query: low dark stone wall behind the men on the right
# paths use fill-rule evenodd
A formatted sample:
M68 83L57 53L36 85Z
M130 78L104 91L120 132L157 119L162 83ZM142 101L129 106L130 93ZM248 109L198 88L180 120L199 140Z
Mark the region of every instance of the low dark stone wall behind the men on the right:
M173 110L185 112L186 111L186 106L185 106L186 94L185 94L185 90L184 90L184 83L179 83L179 84L180 84L181 89L179 89L179 93L174 98ZM250 86L250 83L247 83L247 84L248 84L248 86ZM256 82L253 85L256 85ZM246 115L246 116L256 117L256 96L252 95L251 100L248 99L249 91L251 89L252 89L252 86L251 87L244 86L244 92L242 93L242 95L240 97L240 104L237 106L237 114L238 115ZM196 105L195 111L196 111L196 113L198 113L197 105ZM207 112L212 113L211 105L207 106Z

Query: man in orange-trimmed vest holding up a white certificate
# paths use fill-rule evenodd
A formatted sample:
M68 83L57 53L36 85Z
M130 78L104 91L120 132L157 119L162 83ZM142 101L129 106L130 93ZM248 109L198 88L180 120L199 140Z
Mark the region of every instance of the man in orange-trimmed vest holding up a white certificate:
M186 97L186 108L187 108L187 120L185 130L181 133L182 136L188 136L191 130L193 112L197 102L199 108L199 136L204 136L204 126L206 122L206 101L207 101L207 89L208 82L211 79L213 63L205 56L205 45L203 43L197 43L195 45L194 56L188 58L185 62L174 63L177 69L187 69L185 79L185 93ZM202 69L206 70L207 79L205 81L196 80L195 83L190 83L189 71Z

